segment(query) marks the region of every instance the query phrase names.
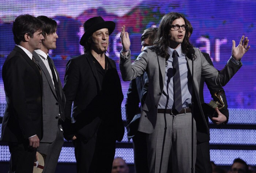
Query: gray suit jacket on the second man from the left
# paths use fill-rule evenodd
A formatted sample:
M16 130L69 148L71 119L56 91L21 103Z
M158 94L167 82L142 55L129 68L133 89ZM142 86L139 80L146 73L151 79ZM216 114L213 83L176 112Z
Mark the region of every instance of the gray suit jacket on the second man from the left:
M52 78L50 77L49 71L47 70L44 62L37 53L33 52L35 60L42 70L43 78L43 97L42 97L42 108L43 108L43 130L44 137L40 142L53 142L56 139L57 132L59 131L58 119L59 119L59 102L65 103L65 96L62 91L62 85L60 82L59 73L52 62L53 68L57 73L57 80L59 84L59 91L61 94L61 100L58 101L57 94L53 86ZM64 116L64 115L61 115Z

